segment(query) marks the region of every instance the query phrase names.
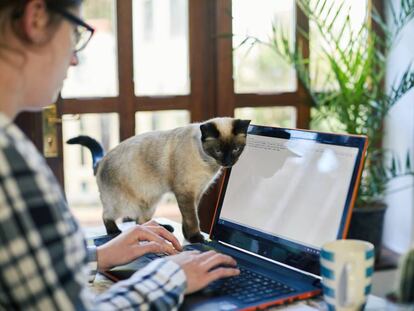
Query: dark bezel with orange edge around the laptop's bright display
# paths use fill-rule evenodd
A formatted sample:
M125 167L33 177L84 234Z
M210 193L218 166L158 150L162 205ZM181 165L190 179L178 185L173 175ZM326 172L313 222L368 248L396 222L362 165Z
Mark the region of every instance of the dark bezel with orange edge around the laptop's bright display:
M282 139L306 139L323 144L358 148L350 187L346 196L344 212L337 234L338 239L345 238L348 232L351 212L355 203L362 172L364 155L367 148L367 137L361 135L333 134L259 125L250 125L247 134ZM292 266L296 269L320 275L319 249L285 240L281 237L265 234L254 229L243 228L242 230L242 226L219 220L230 176L231 168L226 169L223 176L223 182L210 230L210 239L231 244L246 251ZM255 250L252 251L252 249L249 249L246 245L255 245Z

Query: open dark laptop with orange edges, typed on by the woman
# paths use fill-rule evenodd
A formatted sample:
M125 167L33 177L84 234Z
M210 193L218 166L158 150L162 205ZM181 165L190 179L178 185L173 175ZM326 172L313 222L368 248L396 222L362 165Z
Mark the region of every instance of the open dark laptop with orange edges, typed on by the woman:
M321 294L320 249L346 237L366 148L364 136L250 125L208 240L185 247L228 254L241 273L186 296L181 309L255 310ZM159 256L105 274L125 279Z

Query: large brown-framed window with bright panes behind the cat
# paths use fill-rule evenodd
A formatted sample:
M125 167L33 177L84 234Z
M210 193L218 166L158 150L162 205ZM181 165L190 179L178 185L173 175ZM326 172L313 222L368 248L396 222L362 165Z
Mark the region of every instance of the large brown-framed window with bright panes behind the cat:
M297 38L295 23L306 20L293 0L86 3L85 17L101 35L65 83L58 107L64 141L84 133L110 149L135 134L234 115L271 126L308 127L306 94L292 68L272 51L252 50L247 58L242 50L233 54L240 36L223 36L259 34L276 21ZM76 114L79 120L73 120ZM64 144L64 153L70 208L81 224L102 225L89 151ZM217 195L217 188L210 190L199 208L204 230ZM180 220L175 200L167 196L162 204L156 216Z

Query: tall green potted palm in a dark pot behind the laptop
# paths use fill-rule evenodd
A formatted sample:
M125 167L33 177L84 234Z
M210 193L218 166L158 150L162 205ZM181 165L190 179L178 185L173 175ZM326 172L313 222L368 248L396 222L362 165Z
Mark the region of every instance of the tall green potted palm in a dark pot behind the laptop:
M309 19L311 31L299 29L299 33L309 42L310 56L304 53L303 41L293 42L277 21L268 41L248 36L242 44L266 45L294 66L310 98L312 128L368 136L349 235L374 243L379 258L387 184L393 178L413 174L410 155L397 156L386 150L382 139L390 109L414 86L414 70L409 66L388 90L384 87L387 57L401 30L414 17L414 2L401 0L398 12L390 7L388 24L375 7L355 22L345 1L297 3Z

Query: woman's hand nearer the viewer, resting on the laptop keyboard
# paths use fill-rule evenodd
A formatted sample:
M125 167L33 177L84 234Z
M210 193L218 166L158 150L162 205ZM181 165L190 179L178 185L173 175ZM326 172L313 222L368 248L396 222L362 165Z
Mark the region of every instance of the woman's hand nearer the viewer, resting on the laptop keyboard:
M187 277L186 294L194 293L215 280L240 274L233 258L215 251L182 252L169 256L168 259L180 265L184 270Z

